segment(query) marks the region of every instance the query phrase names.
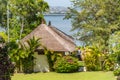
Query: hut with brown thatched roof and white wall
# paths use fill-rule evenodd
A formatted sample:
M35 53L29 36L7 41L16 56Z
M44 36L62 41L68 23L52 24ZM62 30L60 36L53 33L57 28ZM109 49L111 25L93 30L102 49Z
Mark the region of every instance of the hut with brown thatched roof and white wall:
M41 38L40 42L43 46L47 49L52 50L54 52L61 52L66 54L68 52L73 52L75 50L75 43L74 39L65 34L64 32L60 31L59 29L46 24L41 24L37 28L35 28L30 34L25 36L21 41L25 43L27 40L35 36L36 38ZM42 72L43 70L49 71L49 65L47 62L47 57L45 55L35 54L36 65L34 66L35 72Z

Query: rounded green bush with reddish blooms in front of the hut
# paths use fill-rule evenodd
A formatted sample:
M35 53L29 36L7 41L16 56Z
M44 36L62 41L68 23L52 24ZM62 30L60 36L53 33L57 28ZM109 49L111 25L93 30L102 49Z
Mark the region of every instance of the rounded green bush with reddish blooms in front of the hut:
M78 59L71 56L64 56L58 59L54 64L54 69L58 73L71 73L78 71Z

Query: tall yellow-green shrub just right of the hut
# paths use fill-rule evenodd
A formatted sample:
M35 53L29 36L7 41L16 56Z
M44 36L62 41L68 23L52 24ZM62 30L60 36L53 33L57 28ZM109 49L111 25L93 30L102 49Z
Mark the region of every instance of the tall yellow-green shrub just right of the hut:
M100 51L96 47L88 47L86 49L84 61L88 71L101 70L100 55Z

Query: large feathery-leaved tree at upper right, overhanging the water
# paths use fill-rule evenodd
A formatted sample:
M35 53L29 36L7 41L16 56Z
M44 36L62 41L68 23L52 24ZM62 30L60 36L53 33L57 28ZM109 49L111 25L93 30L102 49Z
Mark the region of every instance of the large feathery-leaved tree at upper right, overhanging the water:
M96 45L107 52L110 36L120 30L119 0L72 0L66 18L72 20L72 30L87 45Z

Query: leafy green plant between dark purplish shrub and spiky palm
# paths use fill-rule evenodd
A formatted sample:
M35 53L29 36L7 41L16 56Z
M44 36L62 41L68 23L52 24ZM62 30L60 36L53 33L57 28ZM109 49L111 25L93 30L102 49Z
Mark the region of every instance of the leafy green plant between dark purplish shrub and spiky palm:
M27 52L23 49L21 44L17 42L9 42L7 43L7 46L9 47L9 56L11 58L11 61L15 63L16 71L22 72L22 60L26 57L28 57Z

